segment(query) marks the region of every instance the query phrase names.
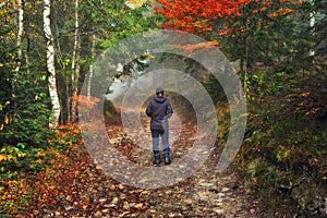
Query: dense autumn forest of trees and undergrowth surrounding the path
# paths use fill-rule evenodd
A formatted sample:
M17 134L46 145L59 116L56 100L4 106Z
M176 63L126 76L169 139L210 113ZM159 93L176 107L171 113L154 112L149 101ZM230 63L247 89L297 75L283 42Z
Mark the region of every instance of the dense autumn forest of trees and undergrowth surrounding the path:
M327 216L326 0L2 0L0 19L1 214L33 205L35 178L82 143L77 105L95 102L78 94L96 58L133 34L166 28L215 41L242 80L247 126L232 168L249 193L271 217ZM202 71L185 64L185 73ZM229 108L214 77L202 83L221 146ZM107 117L116 113L105 106Z

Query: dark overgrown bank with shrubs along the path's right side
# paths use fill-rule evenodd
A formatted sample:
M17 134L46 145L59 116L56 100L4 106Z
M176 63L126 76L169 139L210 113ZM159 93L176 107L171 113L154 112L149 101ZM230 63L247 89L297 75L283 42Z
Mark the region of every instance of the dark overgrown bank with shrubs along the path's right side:
M271 215L318 217L327 193L326 78L312 74L296 78L270 77L267 92L250 101L235 167ZM283 88L276 92L276 87Z

